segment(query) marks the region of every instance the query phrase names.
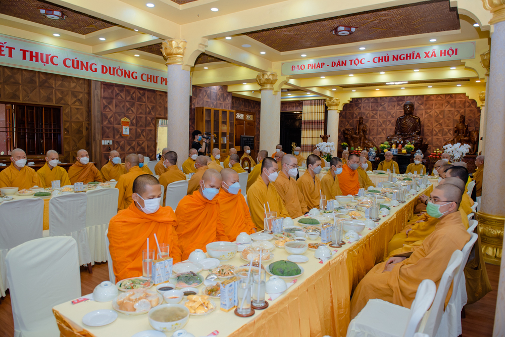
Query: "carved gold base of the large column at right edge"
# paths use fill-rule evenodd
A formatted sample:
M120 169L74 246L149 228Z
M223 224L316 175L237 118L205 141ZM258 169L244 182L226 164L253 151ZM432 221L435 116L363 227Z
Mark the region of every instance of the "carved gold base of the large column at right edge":
M499 266L501 264L505 217L477 212L477 219L479 220L484 261Z

